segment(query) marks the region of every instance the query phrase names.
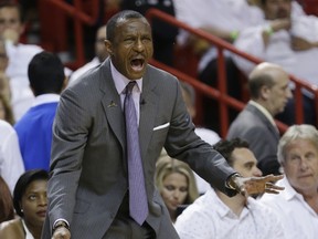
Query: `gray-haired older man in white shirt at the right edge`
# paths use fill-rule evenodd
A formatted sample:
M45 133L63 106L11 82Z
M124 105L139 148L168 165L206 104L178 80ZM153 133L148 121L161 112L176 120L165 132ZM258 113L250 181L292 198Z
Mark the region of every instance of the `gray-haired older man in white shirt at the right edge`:
M285 178L280 195L264 195L283 222L289 239L314 239L318 235L318 131L311 125L294 125L278 144L278 162Z

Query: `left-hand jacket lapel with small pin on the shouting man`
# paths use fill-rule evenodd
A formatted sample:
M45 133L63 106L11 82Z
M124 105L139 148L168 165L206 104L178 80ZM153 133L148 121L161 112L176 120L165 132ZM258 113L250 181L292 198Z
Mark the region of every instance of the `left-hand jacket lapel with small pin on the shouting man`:
M123 152L126 152L124 114L121 110L120 96L117 93L114 80L112 77L109 59L102 64L100 70L100 91L104 92L102 105L109 126L123 147Z

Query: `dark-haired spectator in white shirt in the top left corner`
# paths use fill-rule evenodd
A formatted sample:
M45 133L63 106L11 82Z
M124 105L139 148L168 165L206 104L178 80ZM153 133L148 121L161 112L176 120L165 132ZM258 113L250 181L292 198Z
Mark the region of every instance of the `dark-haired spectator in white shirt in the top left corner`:
M0 3L0 37L6 41L9 58L6 73L10 79L11 102L17 121L29 110L34 98L29 87L29 62L36 53L43 51L39 45L20 43L23 31L24 23L20 6L12 1L2 1Z

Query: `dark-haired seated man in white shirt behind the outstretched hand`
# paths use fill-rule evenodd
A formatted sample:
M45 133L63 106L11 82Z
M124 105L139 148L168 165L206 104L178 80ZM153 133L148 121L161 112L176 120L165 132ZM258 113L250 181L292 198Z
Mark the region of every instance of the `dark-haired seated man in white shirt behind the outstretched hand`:
M240 138L221 141L214 148L242 176L262 176L246 142ZM181 239L284 238L283 227L269 208L252 197L246 199L241 194L227 197L215 188L198 198L177 218L176 229Z

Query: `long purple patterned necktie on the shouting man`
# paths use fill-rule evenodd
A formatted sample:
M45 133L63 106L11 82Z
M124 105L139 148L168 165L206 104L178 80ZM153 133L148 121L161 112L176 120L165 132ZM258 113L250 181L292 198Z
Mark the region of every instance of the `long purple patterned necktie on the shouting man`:
M135 84L136 82L131 81L126 86L124 111L127 136L129 212L130 217L141 226L148 216L148 202L140 156L137 115L131 94Z

